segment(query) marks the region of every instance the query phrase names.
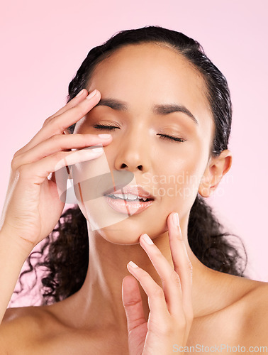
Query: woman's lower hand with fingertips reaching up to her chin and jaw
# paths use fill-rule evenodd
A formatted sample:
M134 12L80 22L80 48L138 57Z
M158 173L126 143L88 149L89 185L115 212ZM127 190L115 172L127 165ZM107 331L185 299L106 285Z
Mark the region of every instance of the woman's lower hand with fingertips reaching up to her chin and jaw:
M133 268L128 263L128 271L145 290L150 308L146 321L138 282L131 275L125 276L122 295L128 322L129 355L171 355L179 346L183 349L189 337L193 322L192 267L181 229L172 218L175 215L172 212L167 217L174 268L155 244L147 244L144 234L140 236L140 245L160 275L163 288L142 268Z

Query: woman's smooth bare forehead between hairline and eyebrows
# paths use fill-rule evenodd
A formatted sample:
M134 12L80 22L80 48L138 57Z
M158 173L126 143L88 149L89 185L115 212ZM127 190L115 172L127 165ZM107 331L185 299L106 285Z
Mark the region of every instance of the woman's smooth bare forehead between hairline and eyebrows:
M203 77L167 45L143 43L119 48L96 66L86 89L95 88L102 97L128 102L133 113L152 104L177 103L201 121L211 117Z

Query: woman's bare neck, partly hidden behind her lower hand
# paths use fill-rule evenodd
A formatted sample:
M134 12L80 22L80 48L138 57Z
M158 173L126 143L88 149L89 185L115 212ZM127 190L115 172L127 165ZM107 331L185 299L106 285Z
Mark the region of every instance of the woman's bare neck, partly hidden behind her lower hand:
M181 221L182 235L186 249L193 266L193 307L194 317L207 315L219 307L216 297L216 279L218 272L212 271L204 266L191 251L187 239L188 220ZM79 305L78 322L80 326L94 329L113 329L117 332L126 332L127 323L125 310L122 302L122 281L126 275L130 275L127 263L134 261L140 268L147 271L162 287L162 281L155 271L154 266L140 244L122 245L106 241L96 231L89 230L89 268L82 288L72 297ZM168 232L164 232L153 239L155 245L167 258L169 264L174 268L172 255L169 248ZM220 273L220 275L223 275ZM221 280L222 281L222 280ZM140 286L140 294L143 299L145 319L149 315L147 295ZM218 292L218 290L217 290ZM78 298L78 299L77 299ZM81 314L81 305L82 314ZM87 325L86 325L87 324Z

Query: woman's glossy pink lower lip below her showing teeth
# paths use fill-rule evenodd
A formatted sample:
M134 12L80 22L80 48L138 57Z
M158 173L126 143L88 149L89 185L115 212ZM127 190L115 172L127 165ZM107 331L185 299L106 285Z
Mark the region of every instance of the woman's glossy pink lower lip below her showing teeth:
M147 207L149 207L154 200L147 202L137 202L137 201L126 201L122 200L119 197L114 199L113 197L104 196L108 205L114 209L116 212L121 212L124 214L132 215L143 212Z

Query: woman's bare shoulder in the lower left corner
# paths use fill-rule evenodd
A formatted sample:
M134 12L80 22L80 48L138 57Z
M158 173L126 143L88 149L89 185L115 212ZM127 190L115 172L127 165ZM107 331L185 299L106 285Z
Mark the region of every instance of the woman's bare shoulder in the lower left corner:
M104 337L98 338L97 332L91 335L87 330L69 327L57 313L50 306L6 310L0 325L0 354L88 355L89 349L90 354L115 354L108 349Z

